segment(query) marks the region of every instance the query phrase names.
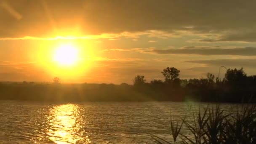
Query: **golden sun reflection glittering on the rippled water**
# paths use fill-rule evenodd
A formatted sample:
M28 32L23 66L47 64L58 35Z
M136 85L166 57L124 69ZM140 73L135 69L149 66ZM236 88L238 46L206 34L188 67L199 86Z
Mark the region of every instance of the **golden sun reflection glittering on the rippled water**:
M64 104L51 109L48 118L51 127L48 130L48 139L56 144L75 144L77 141L91 143L88 136L84 136L81 129L83 119L80 119L79 107L74 104Z

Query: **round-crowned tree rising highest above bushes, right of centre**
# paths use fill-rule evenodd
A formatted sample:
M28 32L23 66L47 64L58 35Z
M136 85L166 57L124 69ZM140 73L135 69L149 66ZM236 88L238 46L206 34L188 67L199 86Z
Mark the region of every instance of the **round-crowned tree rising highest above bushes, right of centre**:
M163 69L163 76L165 77L165 82L173 81L174 79L179 78L179 69L176 69L175 67L167 67Z

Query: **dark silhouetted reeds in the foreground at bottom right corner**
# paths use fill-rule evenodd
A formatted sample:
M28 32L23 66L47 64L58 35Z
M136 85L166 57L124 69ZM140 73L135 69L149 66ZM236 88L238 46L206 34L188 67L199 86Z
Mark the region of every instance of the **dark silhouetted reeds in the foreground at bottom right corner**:
M199 108L198 112L193 112L192 117L192 123L185 116L176 125L171 119L172 142L154 135L151 137L160 144L256 144L255 104L237 106L234 113L226 113L219 105L206 107L203 112ZM193 136L183 134L183 128L187 128Z

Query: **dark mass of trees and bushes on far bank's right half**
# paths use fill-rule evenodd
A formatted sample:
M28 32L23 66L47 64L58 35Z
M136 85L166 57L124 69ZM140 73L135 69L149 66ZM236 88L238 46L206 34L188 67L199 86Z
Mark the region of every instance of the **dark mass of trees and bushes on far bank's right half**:
M180 79L180 70L175 67L167 67L161 73L164 81L151 80L147 82L144 75L137 75L133 79L134 88L141 93L145 93L148 89L151 91L150 93L158 93L175 101L190 99L241 102L250 99L253 101L256 95L256 75L247 76L243 67L227 69L223 80L211 73L207 73L206 78Z

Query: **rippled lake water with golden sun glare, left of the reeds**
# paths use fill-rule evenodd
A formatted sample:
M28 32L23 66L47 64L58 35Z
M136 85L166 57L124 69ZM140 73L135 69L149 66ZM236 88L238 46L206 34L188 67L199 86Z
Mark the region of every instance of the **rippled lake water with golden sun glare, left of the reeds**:
M157 144L148 133L171 140L171 115L176 122L191 116L189 105L198 109L192 102L0 101L0 143Z

